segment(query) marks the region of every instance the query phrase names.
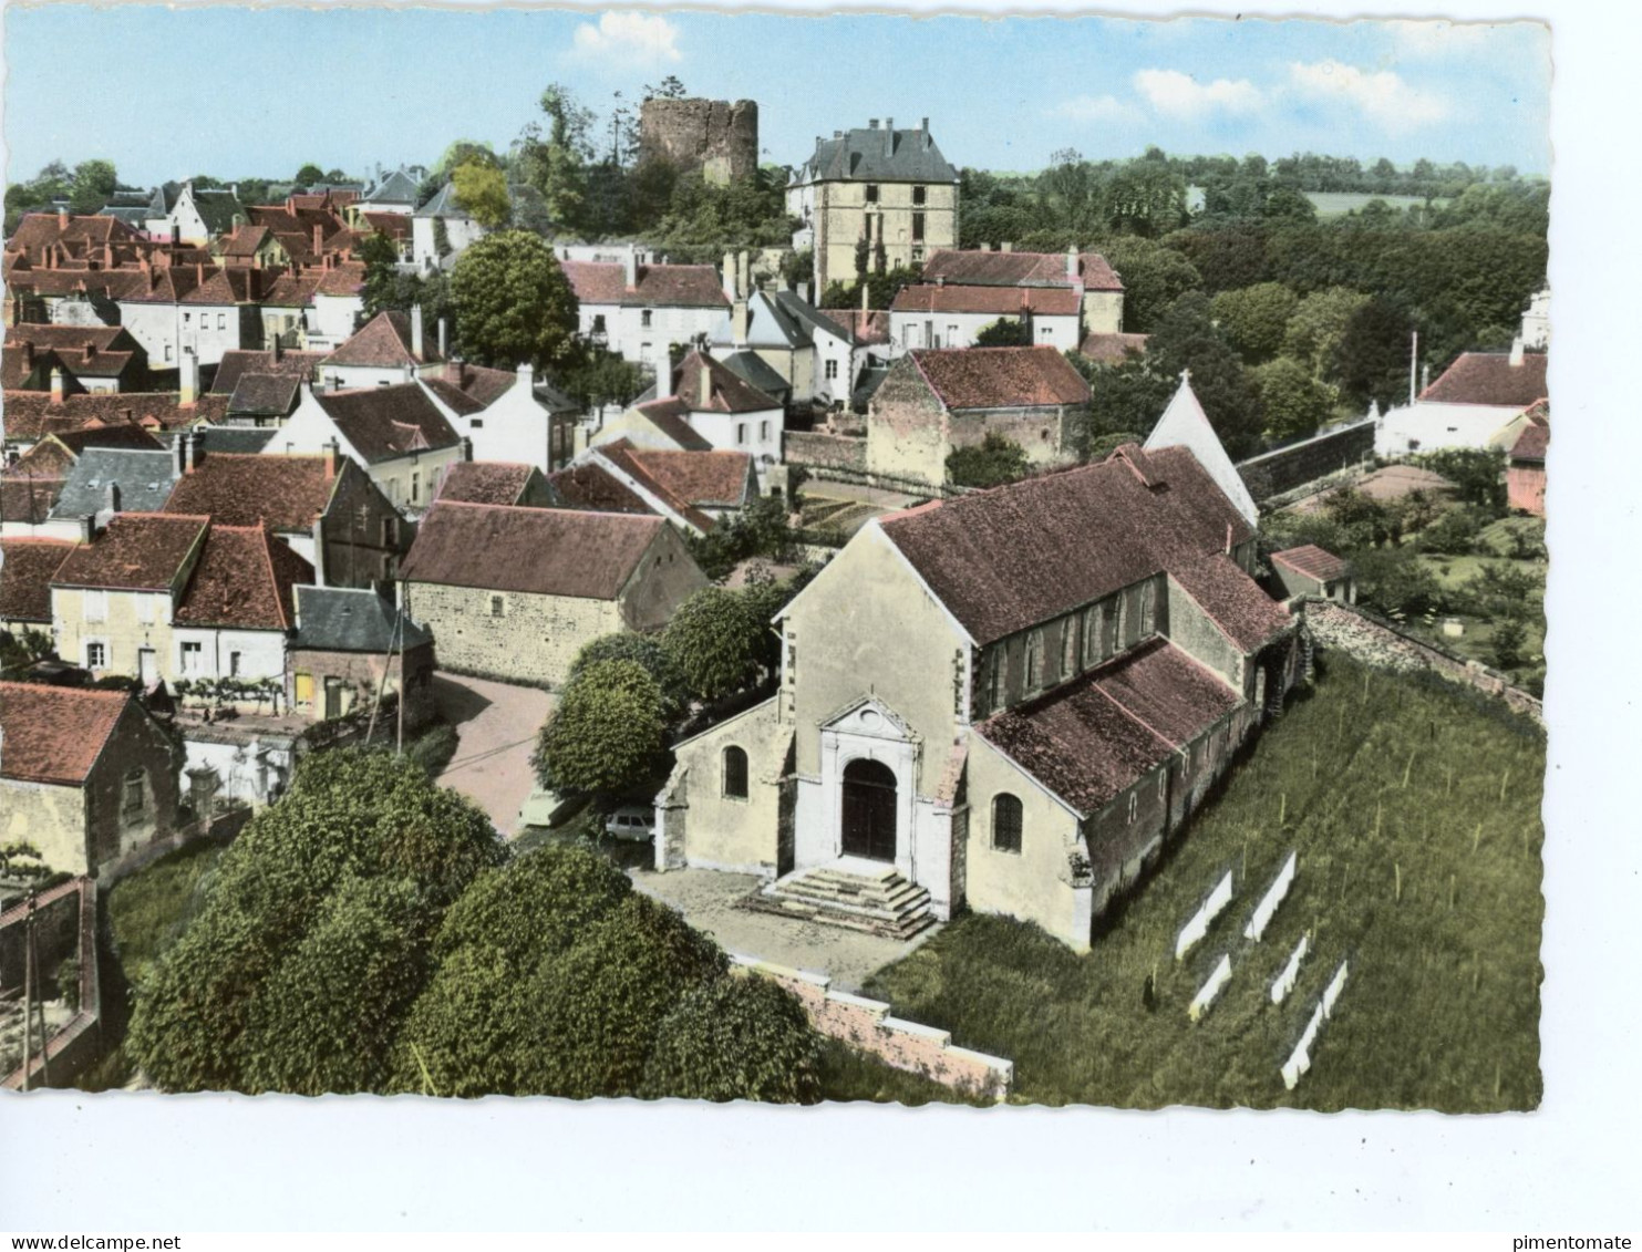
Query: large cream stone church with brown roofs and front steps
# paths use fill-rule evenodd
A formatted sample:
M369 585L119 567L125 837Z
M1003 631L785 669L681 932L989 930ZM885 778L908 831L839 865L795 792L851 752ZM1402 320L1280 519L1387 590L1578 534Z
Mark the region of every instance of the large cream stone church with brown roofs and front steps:
M675 745L657 868L757 873L788 916L908 935L969 907L1087 952L1296 679L1254 550L1184 445L869 522L777 617L778 694Z

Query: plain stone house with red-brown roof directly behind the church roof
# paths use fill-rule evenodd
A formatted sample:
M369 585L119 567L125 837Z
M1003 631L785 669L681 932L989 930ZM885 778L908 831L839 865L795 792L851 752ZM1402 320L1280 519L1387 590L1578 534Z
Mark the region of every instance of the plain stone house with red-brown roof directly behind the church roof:
M1072 459L1089 384L1054 348L916 348L867 405L867 471L946 482L946 458L1002 435L1036 468Z

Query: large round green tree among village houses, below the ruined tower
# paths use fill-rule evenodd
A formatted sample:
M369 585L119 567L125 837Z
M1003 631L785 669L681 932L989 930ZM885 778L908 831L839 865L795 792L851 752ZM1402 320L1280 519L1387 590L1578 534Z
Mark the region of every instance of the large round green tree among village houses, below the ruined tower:
M473 243L450 276L461 346L511 369L576 359L576 294L539 235L499 230Z

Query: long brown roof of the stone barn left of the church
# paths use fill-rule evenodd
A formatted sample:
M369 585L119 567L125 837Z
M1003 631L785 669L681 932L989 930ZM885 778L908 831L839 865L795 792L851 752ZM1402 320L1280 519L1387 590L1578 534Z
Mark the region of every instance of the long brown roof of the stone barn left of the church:
M437 500L417 527L401 578L612 601L665 525L660 517Z

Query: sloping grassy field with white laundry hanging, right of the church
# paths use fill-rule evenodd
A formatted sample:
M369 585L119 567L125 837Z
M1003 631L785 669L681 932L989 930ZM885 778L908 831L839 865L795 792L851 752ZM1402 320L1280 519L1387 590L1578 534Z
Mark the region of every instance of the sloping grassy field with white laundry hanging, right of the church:
M1543 766L1540 730L1502 706L1328 655L1090 955L972 916L867 994L1011 1057L1023 1103L1534 1108ZM1263 942L1246 940L1291 850L1294 886ZM1232 904L1176 963L1177 932L1228 870ZM1194 1026L1187 1004L1222 955L1232 981ZM1345 991L1289 1091L1279 1068L1342 962Z

